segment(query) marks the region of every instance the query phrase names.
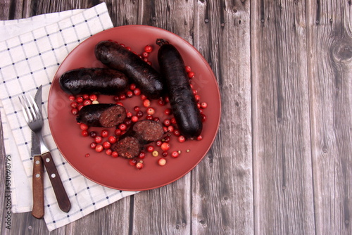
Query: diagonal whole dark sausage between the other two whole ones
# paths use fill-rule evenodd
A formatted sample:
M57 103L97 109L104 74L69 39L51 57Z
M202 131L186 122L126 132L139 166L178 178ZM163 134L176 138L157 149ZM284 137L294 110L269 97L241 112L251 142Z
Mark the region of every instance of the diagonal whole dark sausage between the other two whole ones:
M132 51L115 42L101 41L96 44L95 56L109 68L125 73L149 99L163 94L163 82L159 73Z

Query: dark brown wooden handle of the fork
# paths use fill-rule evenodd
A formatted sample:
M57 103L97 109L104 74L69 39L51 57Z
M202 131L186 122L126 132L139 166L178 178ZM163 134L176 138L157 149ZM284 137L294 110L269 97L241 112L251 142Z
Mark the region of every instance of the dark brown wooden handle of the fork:
M63 182L61 182L60 175L58 175L58 170L56 169L53 158L51 158L50 152L43 153L42 159L46 172L49 174L51 186L53 186L56 200L58 201L58 207L63 212L68 212L71 208L70 199L68 199L68 195L63 187Z

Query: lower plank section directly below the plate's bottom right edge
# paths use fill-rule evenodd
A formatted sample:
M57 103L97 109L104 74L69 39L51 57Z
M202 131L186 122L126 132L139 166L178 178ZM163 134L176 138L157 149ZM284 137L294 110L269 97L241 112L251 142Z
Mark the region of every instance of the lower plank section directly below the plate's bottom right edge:
M134 196L132 234L191 234L190 175Z

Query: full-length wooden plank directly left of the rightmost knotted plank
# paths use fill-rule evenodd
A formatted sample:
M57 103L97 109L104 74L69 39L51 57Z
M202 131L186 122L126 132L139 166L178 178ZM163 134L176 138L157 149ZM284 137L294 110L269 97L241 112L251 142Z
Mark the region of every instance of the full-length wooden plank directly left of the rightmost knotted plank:
M256 234L314 234L305 1L251 6Z

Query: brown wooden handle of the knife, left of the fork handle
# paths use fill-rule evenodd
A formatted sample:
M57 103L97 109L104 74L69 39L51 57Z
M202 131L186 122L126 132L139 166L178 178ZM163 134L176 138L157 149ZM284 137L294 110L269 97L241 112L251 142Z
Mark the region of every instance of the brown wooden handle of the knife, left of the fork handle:
M32 215L37 219L44 216L44 184L43 184L43 162L41 155L34 155L33 175L32 175L32 193L33 208Z

